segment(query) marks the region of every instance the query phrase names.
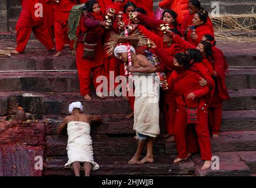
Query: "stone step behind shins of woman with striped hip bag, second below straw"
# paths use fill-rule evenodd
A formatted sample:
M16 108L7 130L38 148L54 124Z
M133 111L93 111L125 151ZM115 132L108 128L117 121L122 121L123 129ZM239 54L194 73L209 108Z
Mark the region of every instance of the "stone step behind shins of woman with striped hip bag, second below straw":
M72 71L0 73L0 85L1 92L79 92L78 73ZM256 88L256 69L230 69L226 85L228 89Z

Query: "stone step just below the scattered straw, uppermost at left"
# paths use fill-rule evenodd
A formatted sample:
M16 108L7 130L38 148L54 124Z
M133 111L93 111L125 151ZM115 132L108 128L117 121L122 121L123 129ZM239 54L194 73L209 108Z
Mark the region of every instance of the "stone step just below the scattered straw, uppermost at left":
M35 54L33 55L35 56ZM77 70L75 57L64 55L61 57L52 56L29 56L26 54L13 55L11 58L0 58L0 71L11 70ZM228 65L232 67L253 67L256 65L254 55L228 55Z

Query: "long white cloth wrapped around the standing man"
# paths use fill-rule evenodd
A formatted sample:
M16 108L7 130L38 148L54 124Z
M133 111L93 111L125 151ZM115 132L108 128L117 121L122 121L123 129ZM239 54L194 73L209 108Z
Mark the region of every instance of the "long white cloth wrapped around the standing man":
M134 130L157 137L159 129L159 79L153 73L134 73Z

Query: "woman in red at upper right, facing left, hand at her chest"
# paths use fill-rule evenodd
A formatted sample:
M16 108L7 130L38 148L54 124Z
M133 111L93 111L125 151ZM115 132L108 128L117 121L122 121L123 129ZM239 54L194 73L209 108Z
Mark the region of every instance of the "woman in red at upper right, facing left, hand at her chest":
M201 42L202 36L210 34L214 36L214 32L207 25L208 12L200 9L194 15L192 19L192 26L188 31L187 41L194 46L197 46Z

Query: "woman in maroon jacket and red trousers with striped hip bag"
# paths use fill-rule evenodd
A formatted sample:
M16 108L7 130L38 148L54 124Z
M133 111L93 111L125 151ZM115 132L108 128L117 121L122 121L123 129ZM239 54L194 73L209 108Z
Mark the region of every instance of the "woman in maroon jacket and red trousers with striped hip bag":
M82 17L79 24L76 52L80 92L85 100L91 100L89 96L91 72L95 89L100 85L96 82L97 77L104 75L102 34L106 25L98 1L91 0L86 5L87 15ZM96 94L104 98L102 92L97 91Z

